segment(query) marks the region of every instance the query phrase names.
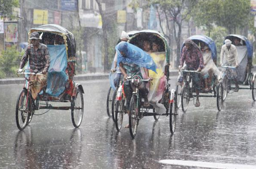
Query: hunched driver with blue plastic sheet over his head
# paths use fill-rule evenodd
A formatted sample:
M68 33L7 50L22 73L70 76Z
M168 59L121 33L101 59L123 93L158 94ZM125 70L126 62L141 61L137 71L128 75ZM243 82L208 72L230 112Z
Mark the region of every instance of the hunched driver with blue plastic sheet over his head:
M133 77L134 75L139 75L140 77L142 77L142 73L140 72L140 66L144 68L144 71L146 74L145 78L148 79L149 78L148 69L145 67L146 65L144 66L139 65L134 61L134 60L139 60L142 57L141 54L143 53L143 51L140 48L127 42L120 42L116 46L116 50L120 52L120 55L118 55L117 57L117 63L119 64L120 70L125 80L123 89L126 96L126 110L127 110L127 113L129 114L130 100L133 94L133 88L130 84L130 81L126 81L126 79L128 76ZM145 55L147 58L151 58L147 53L143 55ZM150 64L151 64L150 66L153 67L154 69L153 71L156 71L156 65L155 65L155 62L152 60L152 58L151 58ZM145 88L144 82L141 83L139 89L142 97L144 98L144 106L149 107L150 105L148 103L148 97L147 97L148 90ZM125 126L125 128L128 128L128 127L129 125Z

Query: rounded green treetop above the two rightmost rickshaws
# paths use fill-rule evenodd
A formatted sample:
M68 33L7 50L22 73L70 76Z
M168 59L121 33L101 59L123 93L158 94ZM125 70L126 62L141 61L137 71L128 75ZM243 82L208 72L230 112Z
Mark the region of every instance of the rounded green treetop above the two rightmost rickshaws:
M249 22L250 1L248 0L199 0L193 10L197 26L203 26L208 35L213 25L227 28L229 34L236 33Z

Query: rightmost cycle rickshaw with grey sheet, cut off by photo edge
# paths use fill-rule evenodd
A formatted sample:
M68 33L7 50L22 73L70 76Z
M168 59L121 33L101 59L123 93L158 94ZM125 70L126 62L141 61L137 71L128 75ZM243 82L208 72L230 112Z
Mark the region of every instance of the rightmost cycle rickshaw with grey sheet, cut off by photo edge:
M223 100L227 98L227 95L230 91L234 90L233 81L230 78L231 69L235 69L237 73L237 82L240 89L246 89L252 91L252 98L256 100L256 82L255 77L256 73L251 72L252 68L252 59L253 59L253 46L251 42L243 35L230 34L225 37L224 40L229 39L232 41L232 44L236 46L238 54L238 63L237 68L232 66L222 66L222 84L224 86ZM235 41L238 41L235 43ZM223 61L225 63L225 60ZM242 87L241 87L242 86Z

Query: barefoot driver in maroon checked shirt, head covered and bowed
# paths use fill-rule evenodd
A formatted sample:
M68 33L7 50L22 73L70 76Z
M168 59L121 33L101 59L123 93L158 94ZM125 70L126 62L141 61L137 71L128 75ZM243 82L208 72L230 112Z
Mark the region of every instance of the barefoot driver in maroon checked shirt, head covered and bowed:
M197 70L201 71L204 68L204 59L201 53L200 48L191 40L187 39L184 42L185 46L182 49L180 57L179 70L183 67L184 62L186 61L187 70ZM200 106L199 102L199 91L200 87L200 74L192 74L193 84L196 88L196 107ZM183 73L183 77L186 77L186 73Z

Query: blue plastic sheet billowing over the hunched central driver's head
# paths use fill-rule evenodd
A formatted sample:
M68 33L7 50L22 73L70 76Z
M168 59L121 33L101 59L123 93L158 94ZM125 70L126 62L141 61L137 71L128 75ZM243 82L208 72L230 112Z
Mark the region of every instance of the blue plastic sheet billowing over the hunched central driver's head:
M127 42L120 42L116 46L116 51L118 66L120 62L135 63L140 67L145 67L156 72L156 63L152 57L141 48ZM125 54L125 57L120 54L120 51Z

